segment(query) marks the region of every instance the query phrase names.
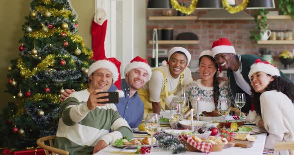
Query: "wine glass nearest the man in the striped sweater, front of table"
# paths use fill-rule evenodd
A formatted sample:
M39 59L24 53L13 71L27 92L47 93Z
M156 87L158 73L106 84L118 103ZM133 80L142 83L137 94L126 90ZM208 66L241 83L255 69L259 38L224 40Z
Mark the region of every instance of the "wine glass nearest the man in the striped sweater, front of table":
M153 135L158 131L159 129L159 119L158 114L155 113L148 113L146 115L145 119L145 128L148 134L151 135L151 150L153 149L152 140Z

